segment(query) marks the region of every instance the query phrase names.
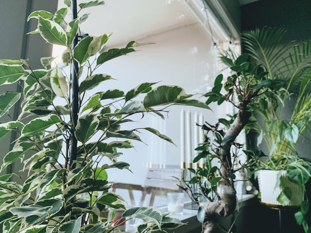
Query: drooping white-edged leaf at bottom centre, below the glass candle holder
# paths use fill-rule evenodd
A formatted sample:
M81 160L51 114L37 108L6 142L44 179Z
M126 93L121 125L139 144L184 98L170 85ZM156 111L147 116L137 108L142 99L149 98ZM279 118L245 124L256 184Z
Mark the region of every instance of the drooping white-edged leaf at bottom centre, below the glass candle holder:
M142 219L144 222L153 222L159 227L159 229L161 229L163 218L160 209L151 206L128 209L123 213L122 217L133 217Z

